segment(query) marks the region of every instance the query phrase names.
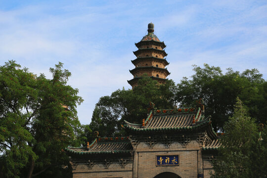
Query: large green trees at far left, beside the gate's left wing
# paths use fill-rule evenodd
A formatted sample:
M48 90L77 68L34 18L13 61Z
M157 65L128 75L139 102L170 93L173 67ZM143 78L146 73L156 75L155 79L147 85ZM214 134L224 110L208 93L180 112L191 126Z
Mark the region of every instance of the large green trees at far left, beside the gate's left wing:
M52 79L20 69L15 61L0 67L0 175L51 177L68 158L61 151L81 127L76 106L83 99L67 85L71 73L58 63ZM56 175L53 175L56 176Z

